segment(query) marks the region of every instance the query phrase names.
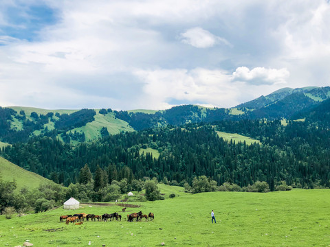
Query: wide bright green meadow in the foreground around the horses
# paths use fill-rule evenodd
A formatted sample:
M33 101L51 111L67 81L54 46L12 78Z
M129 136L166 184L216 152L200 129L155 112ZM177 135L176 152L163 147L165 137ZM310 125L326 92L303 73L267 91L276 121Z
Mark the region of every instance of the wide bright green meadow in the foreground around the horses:
M179 187L161 185L177 196L156 202L131 202L122 221L66 225L60 215L121 212L122 206L83 204L44 213L0 216L0 246L329 246L329 189L271 193L209 192L188 194ZM217 224L211 224L214 210ZM155 220L127 222L127 213L155 213ZM89 242L91 243L89 245Z

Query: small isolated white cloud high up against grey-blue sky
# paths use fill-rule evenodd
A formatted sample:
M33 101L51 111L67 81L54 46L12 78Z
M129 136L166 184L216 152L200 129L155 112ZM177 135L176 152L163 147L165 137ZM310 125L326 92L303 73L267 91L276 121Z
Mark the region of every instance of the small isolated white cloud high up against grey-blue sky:
M193 27L181 34L181 42L197 48L213 47L219 43L230 45L224 38L215 36L201 27Z

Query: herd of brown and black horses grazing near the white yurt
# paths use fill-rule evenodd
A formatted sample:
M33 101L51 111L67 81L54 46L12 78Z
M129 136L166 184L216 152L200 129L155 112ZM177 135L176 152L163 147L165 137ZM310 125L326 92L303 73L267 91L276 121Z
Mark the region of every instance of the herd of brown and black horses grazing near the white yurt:
M122 209L124 212L126 208ZM155 215L153 213L148 213L148 215L145 215L142 213L142 211L138 213L130 213L127 215L127 221L128 222L133 222L135 221L142 221L142 219L145 218L147 220L154 220ZM74 215L61 215L60 216L60 222L64 222L65 224L69 224L70 222L75 223L76 225L83 224L83 221L101 221L103 220L104 222L107 222L108 220L122 220L122 215L119 213L104 213L103 215L94 215L94 214L87 214L87 213L75 213Z

